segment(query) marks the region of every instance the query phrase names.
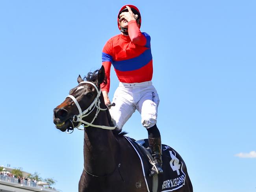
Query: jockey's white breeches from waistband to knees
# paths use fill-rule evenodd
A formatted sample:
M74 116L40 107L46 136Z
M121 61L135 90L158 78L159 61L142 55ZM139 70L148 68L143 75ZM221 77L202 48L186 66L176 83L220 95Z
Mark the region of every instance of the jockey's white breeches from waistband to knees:
M113 121L122 129L137 109L141 114L141 124L150 128L156 124L159 97L151 81L142 83L119 83L109 110Z

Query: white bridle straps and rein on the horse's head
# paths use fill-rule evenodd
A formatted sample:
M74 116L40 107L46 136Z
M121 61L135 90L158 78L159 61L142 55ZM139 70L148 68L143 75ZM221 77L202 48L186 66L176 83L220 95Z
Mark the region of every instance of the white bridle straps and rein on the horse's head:
M81 126L82 123L83 123L83 127L89 127L89 126L91 126L91 127L98 127L98 128L101 128L101 129L110 129L110 130L115 129L116 126L110 127L110 126L100 126L100 125L94 125L94 124L93 124L94 120L95 120L95 119L97 118L97 116L98 116L98 113L99 113L100 111L106 111L107 108L106 108L106 109L100 108L100 94L101 94L101 89L98 90L98 87L96 87L96 85L95 85L94 83L90 82L90 81L82 81L82 82L80 82L79 84L82 84L82 83L89 83L89 84L93 85L93 86L95 87L96 91L97 91L97 96L95 97L95 99L94 99L94 101L91 103L91 105L90 105L87 109L85 109L84 111L82 111L82 109L81 109L81 107L80 107L78 101L76 100L76 98L75 98L74 96L72 96L72 95L67 96L67 98L69 97L69 98L71 98L71 99L74 101L74 103L76 104L76 107L77 107L77 109L78 109L78 111L79 111L79 114L74 115L73 118L72 118L72 120L70 120L71 123L72 123L72 126L73 126L72 129L74 129L74 128L79 129L78 127ZM96 107L96 113L95 113L95 116L94 116L93 120L92 120L90 123L84 121L83 118L86 117L86 116L88 116L88 115L95 109L95 107ZM77 125L76 127L74 127L73 122L78 122L78 125ZM86 126L85 126L85 125L86 125ZM80 130L83 130L83 129L80 129ZM71 132L71 133L72 133L72 132Z

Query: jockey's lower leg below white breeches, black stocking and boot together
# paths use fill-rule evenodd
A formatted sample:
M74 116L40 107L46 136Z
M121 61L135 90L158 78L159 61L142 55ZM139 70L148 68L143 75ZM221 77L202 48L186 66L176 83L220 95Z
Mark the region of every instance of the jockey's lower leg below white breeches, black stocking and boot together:
M153 127L148 128L147 131L148 131L148 144L151 149L153 163L154 163L154 166L152 166L149 175L154 176L156 174L163 173L162 158L161 158L161 155L162 155L161 136L156 124Z

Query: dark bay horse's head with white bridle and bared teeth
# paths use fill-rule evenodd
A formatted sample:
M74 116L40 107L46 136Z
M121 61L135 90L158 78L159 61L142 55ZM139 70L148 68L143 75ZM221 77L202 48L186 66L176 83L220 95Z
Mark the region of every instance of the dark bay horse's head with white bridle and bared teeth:
M64 102L54 109L53 122L57 129L66 131L80 126L79 122L74 119L77 116L92 118L89 113L95 110L93 105L96 105L99 100L100 84L105 79L104 67L88 73L86 79L87 81L83 81L81 76L78 76L78 86L71 89ZM85 115L82 116L82 113Z

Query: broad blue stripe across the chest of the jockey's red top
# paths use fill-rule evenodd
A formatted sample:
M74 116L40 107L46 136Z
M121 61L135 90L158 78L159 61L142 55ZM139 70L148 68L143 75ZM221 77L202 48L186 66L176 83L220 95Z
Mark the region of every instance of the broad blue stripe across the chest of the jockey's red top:
M138 57L123 61L113 61L113 66L119 71L132 71L147 65L151 60L151 49L147 49Z

